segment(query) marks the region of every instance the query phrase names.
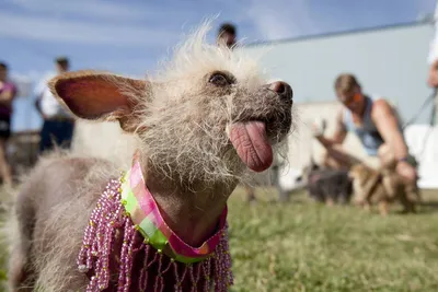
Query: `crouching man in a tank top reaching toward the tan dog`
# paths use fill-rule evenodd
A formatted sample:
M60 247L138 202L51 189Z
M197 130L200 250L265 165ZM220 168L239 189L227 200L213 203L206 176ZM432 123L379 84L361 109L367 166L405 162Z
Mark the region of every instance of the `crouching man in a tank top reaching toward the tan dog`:
M343 108L336 116L335 132L331 138L314 127L314 137L327 150L326 163L333 168L349 168L356 161L343 152L339 145L349 131L359 138L368 156L365 163L373 168L382 166L388 160L378 156L379 149L390 149L396 163L396 172L411 182L416 182L416 162L410 155L404 141L401 122L395 109L384 98L372 100L353 74L344 73L336 78L334 90ZM339 167L341 165L341 167Z

